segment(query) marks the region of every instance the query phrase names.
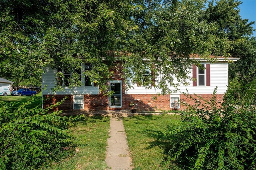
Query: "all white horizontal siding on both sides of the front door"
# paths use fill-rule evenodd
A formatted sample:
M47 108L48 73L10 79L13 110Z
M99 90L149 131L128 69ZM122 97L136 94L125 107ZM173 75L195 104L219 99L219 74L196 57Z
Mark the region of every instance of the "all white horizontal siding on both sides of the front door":
M84 67L84 65L82 65ZM63 91L58 91L56 93L52 92L52 88L54 88L56 83L56 72L57 69L52 69L50 66L46 67L44 69L45 73L42 75L42 87L44 88L46 86L46 89L43 90L43 95L84 95L84 94L90 94L90 95L97 95L99 94L98 87L93 86L85 86L85 79L84 76L82 76L82 87L74 87L72 89L69 89L68 87L64 87ZM192 69L190 70L189 76L192 77ZM192 81L188 80L190 85L183 86L181 85L179 87L181 92L186 92L186 89L188 89L188 93L193 94L212 94L215 87L218 87L217 94L224 94L227 90L228 86L228 63L211 63L210 65L210 85L211 86L199 86L199 87L193 87ZM160 79L161 77L157 77L157 79ZM174 83L178 83L178 81L174 78ZM134 88L126 90L126 94L156 94L161 93L161 89L146 89L145 87L138 87L137 84L132 85ZM170 87L170 89L174 90L173 87Z

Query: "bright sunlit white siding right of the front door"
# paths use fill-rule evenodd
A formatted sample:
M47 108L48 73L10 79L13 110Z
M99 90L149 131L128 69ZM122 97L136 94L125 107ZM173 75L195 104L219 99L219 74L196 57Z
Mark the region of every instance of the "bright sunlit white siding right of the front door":
M206 64L206 63L204 63ZM188 74L192 77L192 69ZM224 94L227 90L228 86L228 63L211 63L210 65L210 81L211 86L193 86L193 82L188 80L190 85L183 86L180 85L179 89L181 92L186 92L188 89L188 93L193 94L212 94L215 87L218 87L217 94ZM156 80L161 79L161 77L156 77ZM174 83L178 83L177 79L174 78ZM156 82L157 85L157 82ZM134 88L128 89L125 91L125 94L156 94L161 93L161 89L146 89L145 87L137 87L136 84L132 84ZM175 90L173 87L170 89Z

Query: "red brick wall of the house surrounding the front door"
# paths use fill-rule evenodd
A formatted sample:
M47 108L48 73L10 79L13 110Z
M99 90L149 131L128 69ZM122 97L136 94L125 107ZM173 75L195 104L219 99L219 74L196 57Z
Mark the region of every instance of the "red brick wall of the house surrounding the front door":
M113 80L122 80L122 108L110 108L109 99L103 94L99 95L84 95L84 110L119 110L119 109L131 109L129 106L130 103L137 105L137 109L140 111L153 111L156 109L170 110L170 95L153 95L153 94L125 94L124 88L124 79L121 78L122 68L120 63L116 63L115 67L109 69L114 72ZM210 100L212 94L198 94L198 96ZM72 110L73 109L73 95L43 95L44 108L49 107L52 104L56 104L65 97L67 99L62 105L55 108L55 110ZM195 95L192 97L198 99ZM216 95L217 102L222 102L223 94ZM201 99L198 99L201 101ZM184 95L180 95L180 103L186 102L190 105L194 104L194 101L190 98L187 98ZM218 103L220 105L220 103ZM180 105L180 108L183 109L184 106Z

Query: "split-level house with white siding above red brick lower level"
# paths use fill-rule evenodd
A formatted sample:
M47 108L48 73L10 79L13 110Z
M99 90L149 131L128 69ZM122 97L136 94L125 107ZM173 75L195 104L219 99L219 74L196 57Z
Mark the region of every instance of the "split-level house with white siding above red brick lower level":
M200 70L198 67L193 66L189 75L195 78L196 81L189 81L190 85L188 86L181 85L179 87L180 91L186 92L187 89L190 94L195 93L204 99L210 99L214 88L217 86L216 98L217 101L221 102L223 94L226 92L228 86L228 61L225 61L224 57L219 57L218 62L216 63L207 63L204 59L196 59L201 61L206 69ZM238 60L238 58L228 59L232 61ZM90 69L91 67L91 64L82 64L83 70ZM119 68L118 70L122 70L122 68ZM72 89L64 87L64 91L58 91L54 94L51 89L54 88L57 83L56 73L58 70L48 66L44 71L45 73L42 75L42 87L46 85L47 89L43 90L42 95L44 98L48 98L48 100L44 101L44 108L55 104L64 97L67 97L67 99L62 105L56 108L56 110L130 109L130 103L134 103L134 105L138 107L138 110L170 110L173 107L184 108L184 106L180 105L181 102L194 104L192 99L187 99L180 93L158 96L156 94L161 93L161 89L154 89L153 87L152 89L146 89L145 87L133 84L133 89L125 90L124 79L120 77L120 72L114 68L110 68L110 71L114 71L114 77L112 77L112 81L108 82L110 90L115 91L115 94L111 97L100 94L98 87L94 87L94 84L86 81L87 77L83 76L81 80L83 84L82 87L74 87ZM63 84L65 84L65 80ZM170 88L174 89L172 87Z

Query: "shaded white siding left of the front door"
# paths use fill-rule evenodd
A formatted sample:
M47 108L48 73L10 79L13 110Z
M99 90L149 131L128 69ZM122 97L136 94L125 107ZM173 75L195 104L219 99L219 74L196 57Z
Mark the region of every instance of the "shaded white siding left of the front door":
M83 67L83 65L82 65ZM53 92L52 88L55 87L57 80L56 80L56 73L57 69L52 69L50 65L44 68L44 72L42 74L42 88L46 87L46 89L43 90L42 94L43 95L84 95L84 94L90 94L90 95L98 95L99 94L99 89L98 87L93 87L93 86L84 86L82 85L81 87L63 87L63 91L57 91ZM82 83L84 84L84 76L82 76Z

